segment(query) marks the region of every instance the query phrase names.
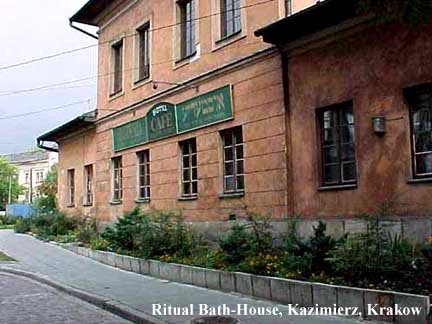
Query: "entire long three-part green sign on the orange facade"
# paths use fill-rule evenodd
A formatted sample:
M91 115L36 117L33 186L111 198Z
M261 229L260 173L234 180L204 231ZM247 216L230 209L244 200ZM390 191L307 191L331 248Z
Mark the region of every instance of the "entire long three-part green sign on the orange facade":
M114 151L232 119L231 98L228 85L177 105L158 103L144 118L113 129Z

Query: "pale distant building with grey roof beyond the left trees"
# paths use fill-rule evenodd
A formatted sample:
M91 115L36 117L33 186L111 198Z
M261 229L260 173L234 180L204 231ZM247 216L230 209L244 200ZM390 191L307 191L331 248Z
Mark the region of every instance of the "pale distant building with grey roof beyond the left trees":
M38 187L44 181L49 169L58 162L55 152L34 151L5 156L18 169L18 184L24 191L18 202L31 203L38 197Z

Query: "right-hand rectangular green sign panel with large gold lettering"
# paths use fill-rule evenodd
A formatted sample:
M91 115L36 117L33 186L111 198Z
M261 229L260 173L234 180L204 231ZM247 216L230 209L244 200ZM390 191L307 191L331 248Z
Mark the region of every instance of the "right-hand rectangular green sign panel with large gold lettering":
M231 86L211 91L176 106L179 133L233 117Z

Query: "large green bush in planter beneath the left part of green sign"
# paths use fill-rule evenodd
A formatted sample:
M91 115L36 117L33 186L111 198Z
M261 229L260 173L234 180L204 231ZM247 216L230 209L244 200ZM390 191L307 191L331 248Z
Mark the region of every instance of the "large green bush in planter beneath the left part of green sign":
M191 255L203 244L180 213L136 208L102 233L113 251L146 258Z

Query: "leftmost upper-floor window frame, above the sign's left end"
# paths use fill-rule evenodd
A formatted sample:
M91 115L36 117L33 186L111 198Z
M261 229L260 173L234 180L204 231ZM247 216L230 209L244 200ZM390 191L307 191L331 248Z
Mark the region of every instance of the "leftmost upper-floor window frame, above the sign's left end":
M124 91L124 59L125 59L125 42L123 38L120 38L111 43L111 73L110 78L110 96L116 96ZM119 54L120 68L117 66L117 53ZM117 80L117 78L119 78ZM118 85L118 88L117 88Z

